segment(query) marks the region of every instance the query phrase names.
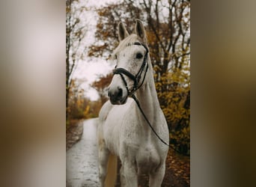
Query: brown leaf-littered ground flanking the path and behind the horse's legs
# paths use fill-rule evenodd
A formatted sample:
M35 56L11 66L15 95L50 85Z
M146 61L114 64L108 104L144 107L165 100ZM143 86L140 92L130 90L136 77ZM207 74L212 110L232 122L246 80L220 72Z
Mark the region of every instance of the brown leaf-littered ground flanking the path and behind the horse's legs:
M66 150L76 144L82 136L82 123L73 122L66 131ZM118 163L120 168L120 163ZM119 171L119 169L118 169ZM148 177L141 175L138 177L138 186L147 187ZM168 151L166 159L165 177L162 181L162 187L187 187L190 186L190 158L181 156L174 150ZM118 174L117 187L120 187L120 178Z

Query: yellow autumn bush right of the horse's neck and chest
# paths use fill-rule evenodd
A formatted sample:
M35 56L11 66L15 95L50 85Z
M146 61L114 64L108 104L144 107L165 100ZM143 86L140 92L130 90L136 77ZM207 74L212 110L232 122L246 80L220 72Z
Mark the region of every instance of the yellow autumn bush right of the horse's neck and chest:
M165 91L159 91L161 85L168 85ZM170 143L177 150L189 154L190 148L190 83L189 76L180 70L167 73L156 83L161 108L170 130Z

